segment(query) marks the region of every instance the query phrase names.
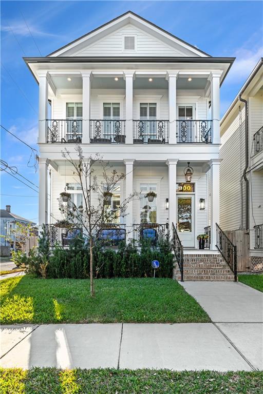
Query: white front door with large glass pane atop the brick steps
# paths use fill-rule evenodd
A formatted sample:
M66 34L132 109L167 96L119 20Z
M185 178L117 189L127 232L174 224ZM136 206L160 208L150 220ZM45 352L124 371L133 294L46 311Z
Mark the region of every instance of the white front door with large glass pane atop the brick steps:
M194 195L177 194L177 232L186 248L195 246Z

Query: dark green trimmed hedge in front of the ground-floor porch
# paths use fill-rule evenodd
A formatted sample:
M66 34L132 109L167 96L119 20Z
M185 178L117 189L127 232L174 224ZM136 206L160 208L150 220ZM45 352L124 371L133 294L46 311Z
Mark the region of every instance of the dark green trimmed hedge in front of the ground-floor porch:
M152 261L158 260L160 268L156 277L172 278L173 254L168 242L158 249L142 246L139 252L132 244L120 244L119 249L93 249L94 275L97 278L153 277ZM89 277L89 248L81 240L71 242L68 249L56 246L47 266L47 278L86 279Z

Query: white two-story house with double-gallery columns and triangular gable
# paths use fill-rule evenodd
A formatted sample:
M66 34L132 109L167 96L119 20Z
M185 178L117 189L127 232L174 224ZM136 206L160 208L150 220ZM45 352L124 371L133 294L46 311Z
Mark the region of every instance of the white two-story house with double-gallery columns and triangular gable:
M233 61L133 12L46 57L25 58L39 84L39 224L60 219L64 188L82 205L61 153L67 147L74 157L80 143L87 157L100 153L127 174L112 203L156 192L153 202L131 202L121 224L174 223L185 248L198 248L197 235L211 226L216 249L220 86Z

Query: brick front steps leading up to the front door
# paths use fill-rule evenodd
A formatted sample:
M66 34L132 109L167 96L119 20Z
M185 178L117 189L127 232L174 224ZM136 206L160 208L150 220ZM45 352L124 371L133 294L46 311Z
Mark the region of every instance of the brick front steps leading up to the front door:
M221 254L184 254L183 278L185 281L234 281L234 274ZM177 262L174 279L181 280Z

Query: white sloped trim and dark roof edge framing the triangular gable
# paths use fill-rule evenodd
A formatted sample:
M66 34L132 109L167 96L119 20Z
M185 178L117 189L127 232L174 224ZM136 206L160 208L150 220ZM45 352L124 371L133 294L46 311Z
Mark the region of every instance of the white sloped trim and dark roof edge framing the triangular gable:
M99 34L103 33L103 31L105 31L105 34L107 34L107 32L110 30L110 28L118 28L118 23L120 22L126 22L126 23L137 23L139 24L141 27L145 27L147 26L148 29L151 29L152 31L155 32L159 32L160 37L162 36L163 38L168 38L171 43L174 44L180 44L182 45L184 48L186 48L187 50L190 50L193 52L193 55L196 56L201 56L201 57L206 57L206 56L210 56L208 53L205 53L203 51L201 51L200 49L196 48L195 46L186 43L185 41L181 40L180 38L176 37L175 35L167 32L166 30L160 28L159 26L155 25L152 22L147 21L147 19L144 19L143 17L141 17L140 15L137 15L136 13L132 12L132 11L127 11L124 14L112 19L111 21L105 23L104 25L91 30L89 33L84 34L83 36L77 38L77 40L74 40L72 42L70 42L67 45L64 45L63 47L57 49L56 51L50 53L48 56L63 56L63 53L68 52L69 50L71 50L74 47L77 47L78 45L80 45L83 42L87 42L88 45L88 41L91 40L91 37L99 37ZM67 54L66 54L67 55Z

